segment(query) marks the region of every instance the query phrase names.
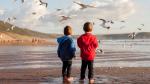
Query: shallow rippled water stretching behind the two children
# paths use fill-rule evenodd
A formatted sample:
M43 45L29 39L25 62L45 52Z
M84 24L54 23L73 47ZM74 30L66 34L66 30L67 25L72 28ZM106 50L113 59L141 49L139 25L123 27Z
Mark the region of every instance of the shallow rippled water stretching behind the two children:
M150 67L150 40L105 40L95 67ZM57 46L0 46L0 69L61 67ZM79 53L79 49L77 51ZM77 54L73 66L80 67Z

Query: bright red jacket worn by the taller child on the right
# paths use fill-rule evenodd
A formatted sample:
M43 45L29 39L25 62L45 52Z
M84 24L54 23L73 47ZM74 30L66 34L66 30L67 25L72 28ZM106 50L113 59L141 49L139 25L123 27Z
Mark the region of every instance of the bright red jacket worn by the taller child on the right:
M94 60L95 50L98 47L96 36L91 33L85 33L77 39L77 44L80 48L82 60Z

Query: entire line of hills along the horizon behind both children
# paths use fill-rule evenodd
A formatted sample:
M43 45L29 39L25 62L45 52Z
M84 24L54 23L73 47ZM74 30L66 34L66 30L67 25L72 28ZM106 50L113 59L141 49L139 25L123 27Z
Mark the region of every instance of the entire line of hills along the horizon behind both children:
M12 25L9 23L5 23L0 21L0 33L5 33L13 38L31 38L31 37L38 37L38 38L57 38L62 36L60 34L46 34L37 31L32 31L25 28L15 27L14 30L11 29ZM105 35L97 35L99 39L129 39L129 33L126 34L105 34ZM79 37L79 35L74 35L75 38ZM135 39L150 39L150 32L139 32Z

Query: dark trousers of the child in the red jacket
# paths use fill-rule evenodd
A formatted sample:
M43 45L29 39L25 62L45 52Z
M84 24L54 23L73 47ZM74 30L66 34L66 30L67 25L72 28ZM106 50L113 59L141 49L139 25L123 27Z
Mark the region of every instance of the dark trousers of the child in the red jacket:
M94 61L82 60L80 79L83 80L85 78L85 72L86 72L87 66L88 66L88 78L89 79L93 78L93 76L94 76L93 63L94 63Z

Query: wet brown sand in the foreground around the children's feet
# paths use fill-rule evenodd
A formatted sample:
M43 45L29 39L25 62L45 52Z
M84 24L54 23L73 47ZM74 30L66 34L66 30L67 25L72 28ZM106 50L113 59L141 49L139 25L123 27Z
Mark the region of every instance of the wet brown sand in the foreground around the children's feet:
M72 69L72 76L75 78L73 84L79 84L79 73L80 68ZM95 80L96 84L149 84L150 68L95 68ZM0 70L1 84L60 84L61 82L61 68Z

